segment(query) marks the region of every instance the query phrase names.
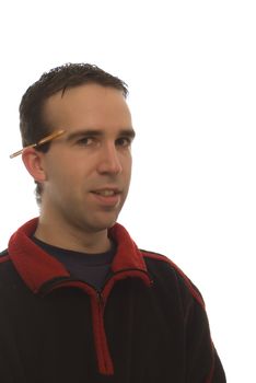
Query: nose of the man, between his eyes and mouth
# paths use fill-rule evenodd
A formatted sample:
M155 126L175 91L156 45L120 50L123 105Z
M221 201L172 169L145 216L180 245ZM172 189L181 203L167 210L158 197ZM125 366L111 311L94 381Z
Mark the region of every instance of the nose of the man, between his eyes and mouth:
M107 144L102 148L97 171L101 174L117 175L121 173L123 166L115 144Z

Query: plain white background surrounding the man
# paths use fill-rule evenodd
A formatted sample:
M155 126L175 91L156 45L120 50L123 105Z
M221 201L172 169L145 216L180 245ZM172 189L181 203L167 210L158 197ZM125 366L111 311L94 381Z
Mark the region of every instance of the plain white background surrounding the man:
M199 287L228 381L255 382L255 1L9 1L0 5L0 246L37 216L19 103L58 65L129 84L137 139L119 217Z

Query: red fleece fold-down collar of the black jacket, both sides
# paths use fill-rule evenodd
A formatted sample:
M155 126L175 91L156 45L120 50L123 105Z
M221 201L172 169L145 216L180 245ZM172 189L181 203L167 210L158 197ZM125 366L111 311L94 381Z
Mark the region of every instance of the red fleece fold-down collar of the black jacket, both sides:
M38 292L40 287L50 280L70 278L61 263L31 240L37 223L38 218L34 218L23 224L11 236L8 246L15 269L33 292ZM109 236L117 244L117 253L112 264L114 274L129 269L147 271L142 254L124 227L116 223L109 229Z

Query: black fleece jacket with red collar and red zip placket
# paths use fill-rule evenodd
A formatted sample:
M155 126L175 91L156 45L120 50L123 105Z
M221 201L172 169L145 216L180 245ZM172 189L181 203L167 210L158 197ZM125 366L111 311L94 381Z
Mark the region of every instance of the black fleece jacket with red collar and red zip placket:
M224 383L199 291L166 257L115 224L101 291L32 240L37 219L0 256L1 383Z

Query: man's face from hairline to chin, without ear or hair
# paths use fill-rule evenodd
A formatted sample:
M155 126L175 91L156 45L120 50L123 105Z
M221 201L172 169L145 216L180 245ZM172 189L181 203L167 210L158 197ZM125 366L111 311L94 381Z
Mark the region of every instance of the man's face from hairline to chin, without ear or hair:
M46 101L44 116L66 132L42 153L42 214L88 232L112 227L131 174L133 130L121 92L98 84L67 89Z

